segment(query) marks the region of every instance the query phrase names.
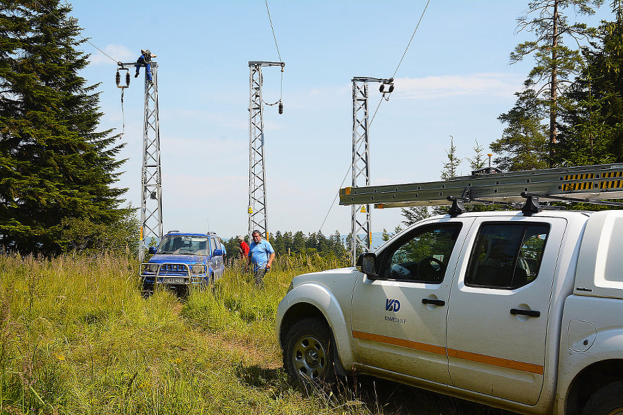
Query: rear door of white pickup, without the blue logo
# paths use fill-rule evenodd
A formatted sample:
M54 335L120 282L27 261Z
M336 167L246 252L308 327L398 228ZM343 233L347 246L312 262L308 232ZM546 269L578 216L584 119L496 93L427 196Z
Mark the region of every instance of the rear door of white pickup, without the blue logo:
M562 218L476 218L450 293L447 348L455 387L528 405L539 400L565 227Z

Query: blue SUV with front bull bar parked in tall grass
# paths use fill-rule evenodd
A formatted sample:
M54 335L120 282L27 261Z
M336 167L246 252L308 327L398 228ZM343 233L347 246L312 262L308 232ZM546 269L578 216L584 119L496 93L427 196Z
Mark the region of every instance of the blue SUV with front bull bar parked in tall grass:
M214 232L169 231L158 247L150 247L150 254L152 258L139 269L144 292L157 285L178 290L207 286L225 271L221 240Z

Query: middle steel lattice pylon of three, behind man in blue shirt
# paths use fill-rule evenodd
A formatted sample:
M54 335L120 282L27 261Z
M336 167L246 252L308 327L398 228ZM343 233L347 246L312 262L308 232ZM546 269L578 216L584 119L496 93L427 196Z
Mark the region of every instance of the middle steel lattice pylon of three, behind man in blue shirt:
M284 67L283 62L249 62L249 240L257 229L269 238L264 163L264 102L262 67Z

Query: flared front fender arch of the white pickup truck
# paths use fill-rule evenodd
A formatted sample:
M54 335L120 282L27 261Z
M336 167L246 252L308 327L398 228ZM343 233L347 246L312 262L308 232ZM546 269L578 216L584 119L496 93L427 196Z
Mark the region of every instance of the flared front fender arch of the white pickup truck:
M315 309L315 312L314 310ZM277 309L278 339L282 344L283 330L288 330L294 321L322 315L329 324L335 340L338 363L350 368L354 362L354 353L350 339L350 330L337 298L323 285L304 283L286 294ZM339 368L338 368L339 369Z

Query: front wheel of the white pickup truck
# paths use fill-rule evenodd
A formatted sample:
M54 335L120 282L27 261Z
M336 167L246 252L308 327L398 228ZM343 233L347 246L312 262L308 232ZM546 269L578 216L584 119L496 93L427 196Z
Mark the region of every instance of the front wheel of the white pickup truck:
M288 331L283 366L288 376L301 385L332 382L333 345L331 330L317 318L297 321Z

